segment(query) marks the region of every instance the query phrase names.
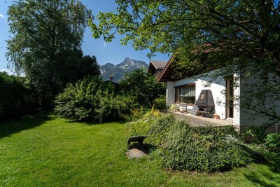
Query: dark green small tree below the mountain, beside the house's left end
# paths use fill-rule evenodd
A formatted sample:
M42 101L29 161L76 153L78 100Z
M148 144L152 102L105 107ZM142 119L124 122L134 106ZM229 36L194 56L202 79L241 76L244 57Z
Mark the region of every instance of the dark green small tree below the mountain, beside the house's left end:
M141 106L150 106L154 99L165 94L165 85L157 83L155 76L146 69L136 69L126 73L120 81L124 94L136 97ZM150 104L150 105L149 105Z

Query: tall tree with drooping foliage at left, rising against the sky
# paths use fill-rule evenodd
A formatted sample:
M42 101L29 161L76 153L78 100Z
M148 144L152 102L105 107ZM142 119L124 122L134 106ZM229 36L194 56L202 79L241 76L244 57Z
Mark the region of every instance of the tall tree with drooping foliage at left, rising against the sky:
M78 0L19 0L8 8L7 59L24 73L49 106L80 66L83 34L91 12Z

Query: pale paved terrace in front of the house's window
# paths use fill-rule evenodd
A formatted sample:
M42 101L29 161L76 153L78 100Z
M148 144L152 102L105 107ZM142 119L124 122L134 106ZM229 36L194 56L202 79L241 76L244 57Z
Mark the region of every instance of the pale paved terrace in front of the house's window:
M233 120L218 120L215 118L205 118L202 116L194 116L190 113L172 112L176 119L187 120L190 125L211 125L214 127L233 125Z

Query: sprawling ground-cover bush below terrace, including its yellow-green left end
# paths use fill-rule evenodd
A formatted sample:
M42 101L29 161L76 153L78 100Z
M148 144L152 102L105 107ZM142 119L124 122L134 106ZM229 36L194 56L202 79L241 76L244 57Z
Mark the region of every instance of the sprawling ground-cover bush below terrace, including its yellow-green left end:
M129 125L132 135L148 135L158 146L162 165L169 169L217 172L262 158L239 141L234 127L191 127L172 115L139 120Z

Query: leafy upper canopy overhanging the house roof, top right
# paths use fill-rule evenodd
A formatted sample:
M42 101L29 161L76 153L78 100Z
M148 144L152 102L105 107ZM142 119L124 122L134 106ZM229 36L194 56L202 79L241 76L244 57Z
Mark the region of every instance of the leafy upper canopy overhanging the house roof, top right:
M106 41L123 34L137 50L176 53L181 57L209 54L209 66L225 67L235 57L252 60L258 69L279 69L279 2L202 0L202 1L126 1L118 0L116 12L99 13L98 24L90 20L93 36ZM203 11L202 11L203 10ZM252 11L251 10L255 10ZM141 18L141 19L139 19ZM249 21L248 21L249 20ZM197 46L200 46L197 48ZM258 48L258 50L255 50ZM209 50L210 49L210 50ZM192 53L190 53L192 52ZM151 55L151 54L150 54ZM201 57L201 56L200 56ZM190 58L191 59L191 58ZM200 64L188 60L192 71ZM204 58L205 60L205 58ZM186 62L186 61L185 61ZM187 64L185 64L187 65ZM257 67L256 67L257 68Z

